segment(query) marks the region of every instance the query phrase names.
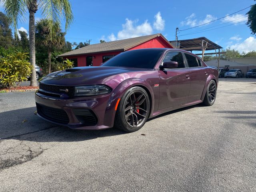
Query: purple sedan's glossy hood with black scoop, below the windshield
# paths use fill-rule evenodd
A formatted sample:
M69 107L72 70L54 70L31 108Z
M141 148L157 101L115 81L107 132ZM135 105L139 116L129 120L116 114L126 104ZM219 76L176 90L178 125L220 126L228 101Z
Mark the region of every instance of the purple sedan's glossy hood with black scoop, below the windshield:
M76 67L51 73L40 80L44 84L104 84L106 79L128 72L141 72L151 69L126 67ZM73 82L73 83L72 83Z

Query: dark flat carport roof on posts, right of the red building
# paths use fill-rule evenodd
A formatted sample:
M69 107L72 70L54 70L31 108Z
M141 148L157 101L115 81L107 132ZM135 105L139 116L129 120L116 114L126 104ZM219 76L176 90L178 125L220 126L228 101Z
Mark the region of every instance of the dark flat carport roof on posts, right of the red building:
M204 40L204 45L207 43L206 50L214 50L214 49L222 49L223 47L219 46L218 44L212 42L211 40L207 39L206 37L199 37L194 39L185 39L185 40L178 40L178 44L180 44L180 49L185 49L187 51L196 51L202 50L202 41ZM175 41L171 41L172 44L175 44Z

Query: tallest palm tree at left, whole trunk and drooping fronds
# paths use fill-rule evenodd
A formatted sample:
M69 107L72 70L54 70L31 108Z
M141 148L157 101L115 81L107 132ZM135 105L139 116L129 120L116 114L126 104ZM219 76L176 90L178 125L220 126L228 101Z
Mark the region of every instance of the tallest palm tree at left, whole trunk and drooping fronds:
M10 18L15 31L17 31L18 20L25 19L29 12L29 49L30 63L34 67L32 70L30 86L37 86L36 82L36 49L35 49L35 13L38 8L42 16L47 19L49 38L54 37L54 23L61 23L62 17L66 20L67 30L73 21L72 8L69 0L0 0L4 2L6 16Z

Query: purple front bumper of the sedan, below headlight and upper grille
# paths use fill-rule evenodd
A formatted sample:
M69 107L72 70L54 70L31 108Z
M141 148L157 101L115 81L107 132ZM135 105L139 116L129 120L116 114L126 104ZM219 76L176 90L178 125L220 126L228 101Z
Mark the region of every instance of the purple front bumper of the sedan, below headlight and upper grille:
M82 98L53 98L36 92L37 115L47 121L72 129L99 130L114 124L111 93Z

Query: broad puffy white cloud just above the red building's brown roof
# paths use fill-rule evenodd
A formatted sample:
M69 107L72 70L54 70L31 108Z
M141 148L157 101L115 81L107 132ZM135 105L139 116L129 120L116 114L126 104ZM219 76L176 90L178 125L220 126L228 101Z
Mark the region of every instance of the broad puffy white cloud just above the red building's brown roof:
M150 35L153 32L152 26L146 20L144 23L137 25L138 20L129 20L122 24L122 30L118 32L117 37L112 33L108 36L110 41Z

